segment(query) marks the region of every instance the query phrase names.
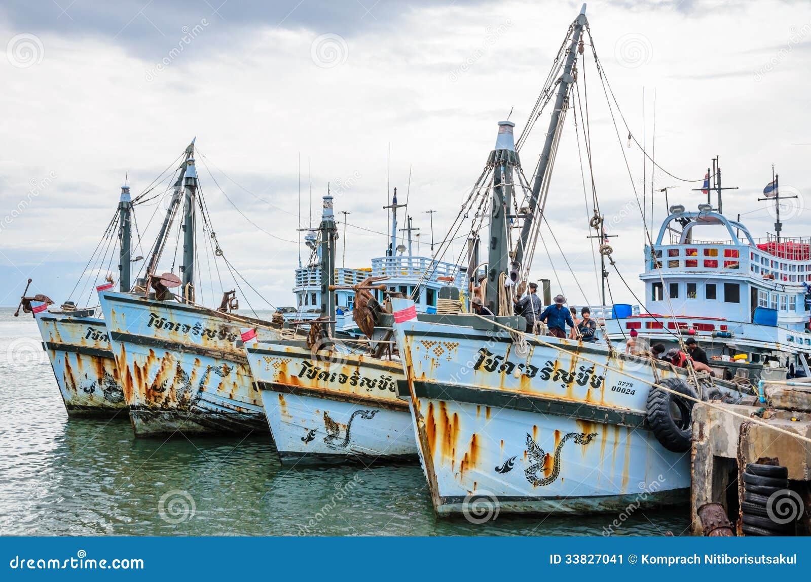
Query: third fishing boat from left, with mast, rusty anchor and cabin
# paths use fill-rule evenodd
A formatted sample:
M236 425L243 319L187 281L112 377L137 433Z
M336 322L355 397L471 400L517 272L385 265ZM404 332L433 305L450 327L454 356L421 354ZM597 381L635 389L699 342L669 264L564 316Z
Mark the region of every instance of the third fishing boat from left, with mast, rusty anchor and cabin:
M390 253L397 249L396 193L393 206ZM314 240L310 267L320 274L320 285L318 299L310 303L320 305L320 311L309 320L307 340L261 342L253 329L242 333L279 458L282 463L415 461L408 402L397 394L404 376L402 364L393 358L391 324L375 323L384 316L384 296L391 294L414 296L421 312L436 312L440 287L456 283L458 291L465 270L411 254L388 256L373 259L371 273L353 285L336 284L341 271L335 268L337 232L330 195L324 196ZM396 268L392 259L397 259ZM341 291L351 294L345 297L363 339L336 333Z

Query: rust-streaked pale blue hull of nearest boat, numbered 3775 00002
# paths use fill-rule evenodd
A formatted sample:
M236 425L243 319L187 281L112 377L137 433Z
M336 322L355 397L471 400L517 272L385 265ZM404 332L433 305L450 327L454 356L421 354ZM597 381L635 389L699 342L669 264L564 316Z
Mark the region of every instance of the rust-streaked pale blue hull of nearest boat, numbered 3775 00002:
M655 381L648 360L547 337L565 349L529 340L523 351L506 332L415 319L395 329L440 515L479 502L582 513L686 499L689 452L646 429L649 384L632 376Z

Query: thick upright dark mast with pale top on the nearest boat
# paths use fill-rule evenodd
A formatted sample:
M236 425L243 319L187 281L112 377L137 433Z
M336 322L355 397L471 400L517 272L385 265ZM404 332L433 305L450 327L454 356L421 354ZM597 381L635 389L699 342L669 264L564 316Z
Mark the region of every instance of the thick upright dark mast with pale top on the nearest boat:
M500 305L500 275L510 271L508 245L508 210L513 199L513 166L518 164L513 137L513 121L499 121L496 147L490 152L488 165L493 165L491 190L490 244L487 253L487 290L484 303L496 315L512 310L511 305Z

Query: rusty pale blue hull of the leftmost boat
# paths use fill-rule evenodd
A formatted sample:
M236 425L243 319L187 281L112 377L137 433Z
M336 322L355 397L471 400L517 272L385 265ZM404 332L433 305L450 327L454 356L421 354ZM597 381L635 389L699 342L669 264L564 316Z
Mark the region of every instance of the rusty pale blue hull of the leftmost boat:
M105 322L90 312L34 315L70 416L126 418L127 401Z

